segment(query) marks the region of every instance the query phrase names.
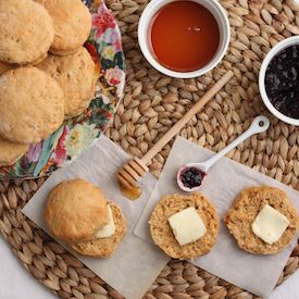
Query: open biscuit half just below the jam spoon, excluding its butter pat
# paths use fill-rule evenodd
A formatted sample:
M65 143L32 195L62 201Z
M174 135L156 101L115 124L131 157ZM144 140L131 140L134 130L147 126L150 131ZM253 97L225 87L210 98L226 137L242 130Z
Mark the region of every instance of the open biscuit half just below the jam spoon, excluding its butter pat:
M180 246L174 237L169 217L189 207L196 209L207 227L207 233L200 239ZM149 224L154 244L171 258L179 260L195 259L210 252L216 242L219 232L215 208L200 192L163 197L152 211Z

